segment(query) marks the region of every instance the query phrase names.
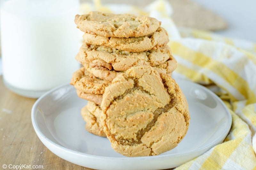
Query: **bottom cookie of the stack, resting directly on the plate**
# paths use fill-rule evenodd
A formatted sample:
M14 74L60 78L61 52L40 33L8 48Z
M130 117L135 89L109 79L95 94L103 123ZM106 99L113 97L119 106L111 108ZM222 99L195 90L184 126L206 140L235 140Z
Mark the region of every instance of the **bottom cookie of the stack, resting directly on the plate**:
M106 137L103 128L100 125L100 106L88 101L88 104L81 109L81 115L86 122L85 129L97 136Z

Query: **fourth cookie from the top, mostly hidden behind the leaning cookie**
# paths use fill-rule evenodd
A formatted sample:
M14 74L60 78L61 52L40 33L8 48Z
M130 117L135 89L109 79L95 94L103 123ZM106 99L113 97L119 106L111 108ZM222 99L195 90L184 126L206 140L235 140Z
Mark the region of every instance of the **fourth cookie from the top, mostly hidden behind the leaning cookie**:
M89 64L84 64L84 67L87 71L92 73L95 77L108 80L108 81L112 81L117 75L122 74L124 72L124 71L108 70L101 66L92 67ZM175 58L172 58L172 60L168 60L160 65L154 66L153 69L159 73L170 74L172 73L172 71L176 69L176 67L177 67L177 61L175 60Z

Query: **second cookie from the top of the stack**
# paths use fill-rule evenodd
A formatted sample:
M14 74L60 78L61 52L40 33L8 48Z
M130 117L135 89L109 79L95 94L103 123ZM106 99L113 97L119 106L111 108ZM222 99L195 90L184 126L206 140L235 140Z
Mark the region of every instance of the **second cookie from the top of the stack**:
M150 49L157 49L169 42L168 33L162 27L159 27L156 32L142 37L108 38L97 34L85 33L83 38L85 42L90 44L106 46L130 52L141 52L148 51Z

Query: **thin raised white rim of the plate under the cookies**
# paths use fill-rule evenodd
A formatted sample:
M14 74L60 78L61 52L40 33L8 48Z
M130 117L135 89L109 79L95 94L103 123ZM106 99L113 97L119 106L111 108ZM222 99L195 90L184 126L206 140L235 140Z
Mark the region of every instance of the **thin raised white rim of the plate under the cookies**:
M64 150L65 152L69 152L69 153L73 153L73 154L76 154L76 155L79 155L79 156L83 156L83 157L90 157L90 158L93 158L93 159L105 159L105 160L120 160L120 161L126 161L126 160L132 160L132 161L135 161L135 160L141 160L141 159L147 159L148 161L150 161L151 159L163 159L163 158L172 158L172 157L183 157L183 156L186 156L186 155L189 155L191 154L192 152L200 152L202 150L210 150L212 147L214 147L215 145L217 144L220 144L223 142L223 140L227 137L229 131L230 131L230 128L231 128L231 125L232 125L232 116L231 116L231 113L230 111L228 110L227 106L224 104L224 102L214 93L212 92L211 90L207 89L206 87L204 87L203 85L199 85L193 81L190 81L190 80L185 80L185 79L180 79L180 78L175 78L175 81L178 81L178 82L184 82L184 83L192 83L193 85L196 85L197 87L200 87L200 88L203 88L204 90L206 90L207 92L211 93L212 96L214 96L215 99L219 100L219 102L221 103L221 105L224 107L225 109L225 115L227 115L226 117L228 118L228 121L227 121L227 127L225 128L225 130L223 130L223 132L221 134L223 134L223 137L219 138L218 140L216 140L216 142L211 142L210 144L207 144L206 146L204 147L200 147L200 148L196 148L192 151L189 151L189 152L179 152L179 153L173 153L173 154L167 154L167 155L156 155L156 156L143 156L143 157L107 157L107 156L100 156L100 155L92 155L92 154L88 154L88 153L83 153L83 152L79 152L79 151L75 151L75 150L72 150L72 149L69 149L69 148L66 148L60 144L57 144L55 142L53 142L52 140L50 140L48 137L46 137L44 135L44 133L40 130L37 122L36 122L36 110L37 110L37 106L38 104L40 104L40 101L42 99L44 99L46 96L48 96L49 94L51 94L52 92L54 91L57 91L58 89L61 89L63 87L66 87L66 86L69 86L70 84L69 83L65 83L65 84L62 84L62 85L59 85L55 88L53 88L52 90L44 93L41 97L39 97L36 102L34 103L32 109L31 109L31 121L32 121L32 125L33 125L33 128L36 132L36 135L39 137L39 139L41 140L41 142L44 144L44 142L42 141L42 139L45 140L45 142L51 144L52 146L55 146L57 148L59 148L60 150ZM180 83L178 83L179 85ZM71 86L71 85L70 85ZM48 129L47 129L48 130ZM48 130L49 131L49 130ZM41 139L42 138L42 139ZM44 144L45 145L45 144ZM46 146L47 147L47 146ZM47 147L48 148L48 147ZM49 149L49 148L48 148ZM50 150L50 149L49 149ZM50 150L52 152L52 150ZM206 152L205 151L205 152ZM204 153L205 153L204 152ZM55 153L54 153L55 154ZM203 154L203 153L201 153ZM201 155L200 154L200 155ZM57 154L56 154L57 155ZM59 156L59 155L57 155ZM60 157L60 156L59 156ZM68 161L68 160L67 160Z

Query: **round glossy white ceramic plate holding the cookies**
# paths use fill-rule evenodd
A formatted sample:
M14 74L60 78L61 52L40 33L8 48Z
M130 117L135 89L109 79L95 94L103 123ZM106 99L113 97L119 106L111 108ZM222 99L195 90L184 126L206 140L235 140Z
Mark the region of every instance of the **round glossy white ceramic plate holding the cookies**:
M125 157L115 152L107 138L84 129L80 110L87 103L71 85L55 88L34 104L31 119L37 136L57 156L93 169L166 169L179 166L221 143L232 118L223 102L210 90L177 80L190 110L190 125L180 144L158 156Z

